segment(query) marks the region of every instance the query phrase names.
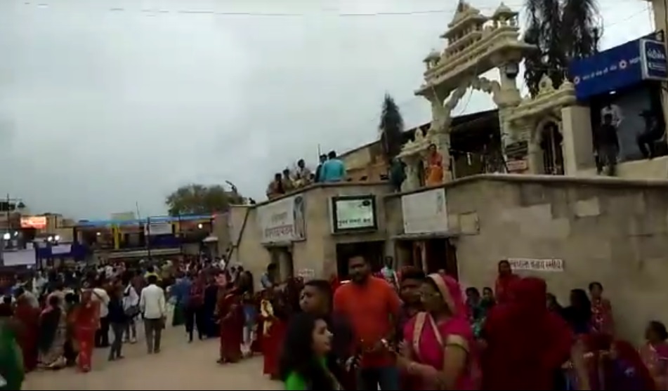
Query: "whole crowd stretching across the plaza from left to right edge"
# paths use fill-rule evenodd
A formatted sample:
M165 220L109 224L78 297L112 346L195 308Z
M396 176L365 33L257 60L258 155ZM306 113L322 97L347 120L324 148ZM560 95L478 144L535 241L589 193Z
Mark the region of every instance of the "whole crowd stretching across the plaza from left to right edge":
M190 341L219 338L222 365L262 354L286 390L668 390L666 327L649 322L639 349L621 340L598 282L562 307L506 261L493 287L466 291L443 271L374 274L354 254L348 268L350 281L280 281L271 264L260 291L250 272L217 263L173 268L170 281L152 266L19 281L0 305L0 350L16 338L22 352L15 370L1 356L4 389L20 389L23 369L89 371L95 347L122 359L138 319L159 353L173 300L172 324Z

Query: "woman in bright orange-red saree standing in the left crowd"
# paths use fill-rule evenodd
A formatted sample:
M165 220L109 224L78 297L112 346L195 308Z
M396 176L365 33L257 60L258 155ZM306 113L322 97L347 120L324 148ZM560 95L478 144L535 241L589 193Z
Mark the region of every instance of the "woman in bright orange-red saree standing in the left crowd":
M95 333L100 327L100 303L92 299L93 291L81 292L81 303L72 312L74 322L74 340L79 345L77 366L81 372L91 370Z

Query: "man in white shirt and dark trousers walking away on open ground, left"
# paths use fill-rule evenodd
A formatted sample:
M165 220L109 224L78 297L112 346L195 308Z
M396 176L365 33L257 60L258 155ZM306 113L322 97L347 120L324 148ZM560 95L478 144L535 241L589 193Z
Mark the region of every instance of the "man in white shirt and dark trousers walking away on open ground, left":
M164 291L156 285L157 281L158 277L155 274L149 274L148 286L142 289L139 295L139 308L144 317L148 354L160 352L162 327L167 317Z

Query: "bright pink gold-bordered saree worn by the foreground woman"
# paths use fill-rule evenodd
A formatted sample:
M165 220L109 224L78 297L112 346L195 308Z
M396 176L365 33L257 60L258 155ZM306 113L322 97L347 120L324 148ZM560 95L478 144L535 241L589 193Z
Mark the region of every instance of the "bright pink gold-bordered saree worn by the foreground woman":
M444 322L435 322L427 312L420 312L404 327L404 340L411 347L413 358L420 364L432 366L438 371L443 369L445 345L459 345L469 353L469 362L455 381L454 390L478 390L480 369L476 352L476 340L473 329L466 317L466 305L462 300L461 289L452 277L430 274L443 299L450 307L453 317ZM436 379L416 379L415 390L438 390Z

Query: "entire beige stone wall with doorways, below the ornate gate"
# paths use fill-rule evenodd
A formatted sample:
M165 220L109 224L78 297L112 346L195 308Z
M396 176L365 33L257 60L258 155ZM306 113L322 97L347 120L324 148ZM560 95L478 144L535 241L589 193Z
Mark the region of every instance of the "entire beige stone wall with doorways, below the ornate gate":
M493 286L502 259L561 258L563 272L520 274L546 279L563 305L568 303L570 289L587 289L589 282L600 281L624 338L640 340L649 320L668 322L664 305L668 298L668 181L476 175L444 187L464 286ZM388 185L379 183L317 185L301 192L306 199L306 240L290 246L296 273L309 269L315 277L329 277L336 271L338 243L384 240L385 255L394 255L391 237L403 231L402 194L388 194ZM329 200L348 194L378 196L379 230L332 234ZM271 261L257 223L261 205L230 212L233 238L236 225L249 214L236 253L256 275L256 282Z

